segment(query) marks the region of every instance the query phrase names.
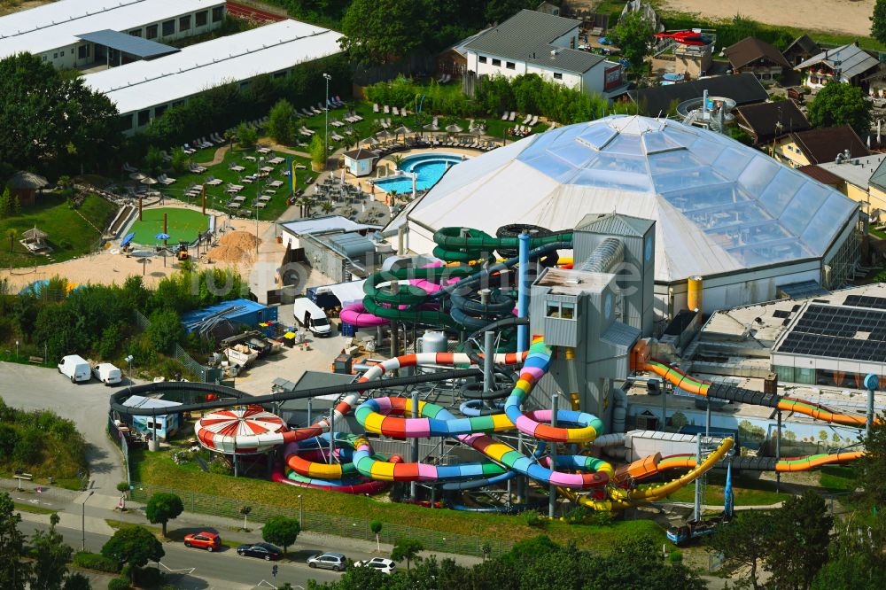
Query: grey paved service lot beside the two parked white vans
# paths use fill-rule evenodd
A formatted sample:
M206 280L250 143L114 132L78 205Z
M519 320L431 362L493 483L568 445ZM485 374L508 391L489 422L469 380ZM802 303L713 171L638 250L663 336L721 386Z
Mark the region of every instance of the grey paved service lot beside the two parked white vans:
M111 392L113 388L97 381L72 384L57 369L0 362L0 397L6 404L27 410L51 409L74 420L88 444L90 489L115 495L116 485L126 479L126 474L120 451L105 434Z

